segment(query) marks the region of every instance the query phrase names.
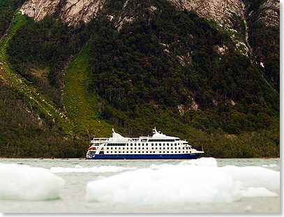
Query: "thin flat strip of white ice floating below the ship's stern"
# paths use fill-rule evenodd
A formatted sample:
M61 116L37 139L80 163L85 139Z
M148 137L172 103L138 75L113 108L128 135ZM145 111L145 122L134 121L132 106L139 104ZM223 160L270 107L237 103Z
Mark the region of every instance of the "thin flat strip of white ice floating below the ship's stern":
M50 171L54 173L61 172L123 172L124 170L135 170L136 167L117 167L117 166L100 166L100 167L51 167Z

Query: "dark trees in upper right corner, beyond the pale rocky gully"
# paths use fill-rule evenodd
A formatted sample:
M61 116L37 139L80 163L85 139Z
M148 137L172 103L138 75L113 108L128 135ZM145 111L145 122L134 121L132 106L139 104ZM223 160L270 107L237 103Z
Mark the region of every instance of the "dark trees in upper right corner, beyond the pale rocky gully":
M248 22L248 41L253 48L253 61L257 64L263 63L264 79L280 93L280 28L277 24L266 25L263 22L269 22L269 17L265 13L268 8L260 8L263 0L245 2L248 4L248 13L251 13L251 20ZM280 16L280 10L269 10Z

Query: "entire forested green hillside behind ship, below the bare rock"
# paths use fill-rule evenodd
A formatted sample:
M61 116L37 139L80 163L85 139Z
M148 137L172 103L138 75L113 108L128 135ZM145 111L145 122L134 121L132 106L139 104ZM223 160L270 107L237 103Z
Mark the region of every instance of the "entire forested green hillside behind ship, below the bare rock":
M258 1L244 1L248 56L216 22L165 0L105 1L75 26L59 17L65 1L38 22L16 14L24 1L6 1L0 156L84 157L91 137L112 127L139 136L156 126L204 156L279 157L280 31L261 22ZM246 38L244 23L231 21ZM34 103L8 75L44 99Z

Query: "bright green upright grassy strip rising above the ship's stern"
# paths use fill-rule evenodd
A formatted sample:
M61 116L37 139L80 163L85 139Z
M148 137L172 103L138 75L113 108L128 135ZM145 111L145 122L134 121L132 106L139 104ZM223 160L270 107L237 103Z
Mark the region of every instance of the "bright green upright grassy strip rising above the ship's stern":
M87 44L70 62L64 77L63 103L71 120L67 128L71 135L110 136L112 126L99 118L98 96L87 92L89 50Z

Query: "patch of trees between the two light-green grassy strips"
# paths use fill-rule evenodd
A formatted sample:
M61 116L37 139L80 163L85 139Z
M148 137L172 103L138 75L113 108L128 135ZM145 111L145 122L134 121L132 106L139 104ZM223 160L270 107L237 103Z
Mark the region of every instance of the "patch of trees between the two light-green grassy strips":
M70 57L89 40L94 23L82 22L75 28L50 16L41 22L34 22L31 17L26 20L8 46L9 61L17 73L49 93L57 107L62 108L62 72Z

